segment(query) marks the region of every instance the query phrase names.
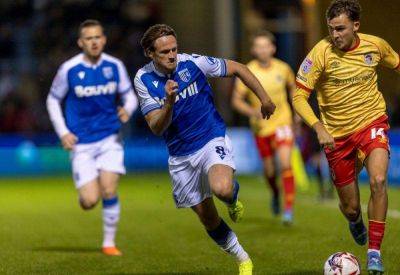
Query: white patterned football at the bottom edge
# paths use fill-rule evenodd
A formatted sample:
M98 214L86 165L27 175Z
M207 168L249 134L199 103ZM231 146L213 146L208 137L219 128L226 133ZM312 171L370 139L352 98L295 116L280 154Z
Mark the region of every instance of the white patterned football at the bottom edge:
M337 252L325 262L324 275L358 275L361 274L358 259L348 252Z

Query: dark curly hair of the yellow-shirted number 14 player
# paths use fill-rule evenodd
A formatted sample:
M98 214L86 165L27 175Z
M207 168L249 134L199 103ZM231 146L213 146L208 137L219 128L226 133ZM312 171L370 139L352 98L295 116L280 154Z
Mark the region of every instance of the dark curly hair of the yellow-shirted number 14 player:
M358 0L333 0L326 10L326 19L332 20L346 14L351 21L360 21L361 5Z

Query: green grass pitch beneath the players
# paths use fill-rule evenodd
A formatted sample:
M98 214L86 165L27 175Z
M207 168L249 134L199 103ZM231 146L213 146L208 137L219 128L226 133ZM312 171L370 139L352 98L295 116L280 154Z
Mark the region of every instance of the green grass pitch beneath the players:
M245 216L222 217L251 255L255 274L322 274L328 256L355 254L365 272L366 247L351 239L336 200L318 203L315 191L298 194L295 224L271 216L261 177L241 176ZM315 189L315 188L312 188ZM208 238L190 210L177 210L167 174L130 174L119 189L117 243L124 255L100 253L101 207L78 206L70 176L0 180L0 274L236 274L234 260ZM362 187L366 204L369 189ZM387 274L400 274L400 190L389 190L383 244ZM364 209L364 219L366 217Z

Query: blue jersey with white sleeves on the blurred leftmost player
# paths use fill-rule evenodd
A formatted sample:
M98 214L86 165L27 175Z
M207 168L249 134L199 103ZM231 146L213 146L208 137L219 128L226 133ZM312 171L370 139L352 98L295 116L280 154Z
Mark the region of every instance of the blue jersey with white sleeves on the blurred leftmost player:
M132 89L123 63L103 53L95 65L78 54L59 68L50 93L65 100L67 128L78 143L101 140L119 131L116 95Z

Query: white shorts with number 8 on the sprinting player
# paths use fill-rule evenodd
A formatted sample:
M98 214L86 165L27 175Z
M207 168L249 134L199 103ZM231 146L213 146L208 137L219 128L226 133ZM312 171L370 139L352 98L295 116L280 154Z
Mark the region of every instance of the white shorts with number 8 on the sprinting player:
M235 170L232 144L228 136L210 140L201 149L187 156L170 156L169 173L172 178L176 207L186 208L212 197L208 170L224 164Z

